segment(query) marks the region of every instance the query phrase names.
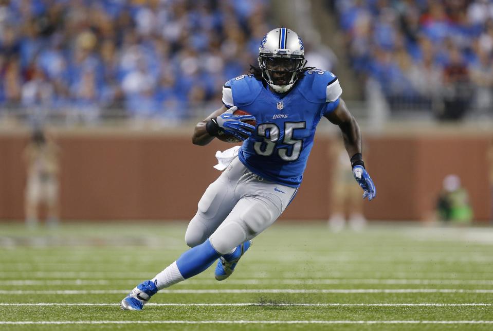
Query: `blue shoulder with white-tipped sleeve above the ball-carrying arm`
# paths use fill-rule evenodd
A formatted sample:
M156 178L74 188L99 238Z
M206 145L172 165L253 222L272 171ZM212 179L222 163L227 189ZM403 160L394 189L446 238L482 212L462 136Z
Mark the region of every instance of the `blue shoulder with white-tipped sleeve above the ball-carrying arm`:
M253 75L241 75L230 79L223 86L223 103L226 106L246 106L257 98L262 90L262 82Z

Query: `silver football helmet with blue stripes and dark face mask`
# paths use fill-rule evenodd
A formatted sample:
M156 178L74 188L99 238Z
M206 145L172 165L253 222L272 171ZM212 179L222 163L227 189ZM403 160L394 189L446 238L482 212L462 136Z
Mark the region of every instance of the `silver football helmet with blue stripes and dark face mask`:
M259 47L262 78L278 93L289 91L306 64L305 49L298 34L287 28L269 31Z

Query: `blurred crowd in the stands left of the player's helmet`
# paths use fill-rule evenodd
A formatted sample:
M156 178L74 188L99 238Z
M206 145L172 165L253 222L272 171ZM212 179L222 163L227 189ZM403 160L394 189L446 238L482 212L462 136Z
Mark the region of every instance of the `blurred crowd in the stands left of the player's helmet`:
M267 10L266 0L1 0L0 109L180 121L256 61Z

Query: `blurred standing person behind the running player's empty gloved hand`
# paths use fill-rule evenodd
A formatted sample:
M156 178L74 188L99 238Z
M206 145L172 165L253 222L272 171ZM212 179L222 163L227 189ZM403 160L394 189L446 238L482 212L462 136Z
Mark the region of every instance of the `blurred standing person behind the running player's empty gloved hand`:
M344 228L347 219L353 230L362 230L367 220L363 216L360 189L354 185L348 153L339 140L331 145L331 153L335 162L330 187L331 216L328 219L328 226L332 231L339 232Z

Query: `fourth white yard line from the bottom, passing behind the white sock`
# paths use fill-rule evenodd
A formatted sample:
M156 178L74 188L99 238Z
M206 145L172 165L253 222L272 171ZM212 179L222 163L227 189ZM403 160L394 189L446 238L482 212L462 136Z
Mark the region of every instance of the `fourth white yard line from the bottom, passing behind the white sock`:
M141 280L0 280L0 286L25 286L25 285L109 285L109 284L128 284L138 283ZM382 284L382 285L493 285L493 280L471 280L471 279L230 279L228 284L234 285L259 285L259 284L283 284L283 285L303 285L303 284ZM180 285L215 285L218 284L213 279L191 279Z

